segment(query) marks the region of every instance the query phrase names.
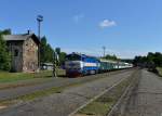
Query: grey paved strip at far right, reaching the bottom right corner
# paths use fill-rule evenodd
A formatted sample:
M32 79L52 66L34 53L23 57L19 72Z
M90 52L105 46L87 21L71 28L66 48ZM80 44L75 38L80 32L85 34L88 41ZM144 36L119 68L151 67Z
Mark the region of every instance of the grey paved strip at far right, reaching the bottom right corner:
M113 116L162 116L162 79L143 69L138 85L120 105Z

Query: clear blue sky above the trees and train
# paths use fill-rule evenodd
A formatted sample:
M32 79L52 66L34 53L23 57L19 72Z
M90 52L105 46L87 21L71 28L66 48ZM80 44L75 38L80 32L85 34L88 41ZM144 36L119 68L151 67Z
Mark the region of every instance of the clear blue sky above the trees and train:
M0 0L0 29L28 29L67 53L121 59L162 52L162 0Z

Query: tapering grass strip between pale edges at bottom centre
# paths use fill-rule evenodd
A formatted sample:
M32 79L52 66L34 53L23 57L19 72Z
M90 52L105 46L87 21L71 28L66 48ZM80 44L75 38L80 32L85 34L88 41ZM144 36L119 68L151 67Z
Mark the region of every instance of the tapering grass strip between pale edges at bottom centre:
M131 79L122 81L120 85L118 85L111 91L102 95L94 102L87 104L85 107L80 109L77 113L77 115L107 116L108 112L116 104L116 102L121 96L121 94L123 93L125 88L129 86L130 81L131 81Z

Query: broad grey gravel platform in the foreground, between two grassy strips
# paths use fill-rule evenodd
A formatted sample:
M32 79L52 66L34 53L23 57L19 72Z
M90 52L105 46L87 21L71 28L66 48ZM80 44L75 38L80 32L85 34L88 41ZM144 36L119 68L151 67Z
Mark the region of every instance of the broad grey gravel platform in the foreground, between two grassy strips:
M62 93L51 94L19 106L1 111L0 116L68 116L68 114L95 95L110 88L121 79L130 77L133 72L123 72L108 76L108 78L86 82L76 88L69 88Z

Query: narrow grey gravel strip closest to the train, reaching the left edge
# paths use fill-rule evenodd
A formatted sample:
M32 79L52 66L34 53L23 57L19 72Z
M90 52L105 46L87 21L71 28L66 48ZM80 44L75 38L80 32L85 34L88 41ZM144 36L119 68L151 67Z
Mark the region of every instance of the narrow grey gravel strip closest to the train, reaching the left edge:
M18 88L10 88L0 90L0 101L8 100L8 99L14 99L19 95L29 94L31 92L40 91L50 89L53 87L65 87L71 83L79 83L79 82L86 82L91 80L95 80L97 78L105 77L107 75L114 75L118 73L123 73L127 70L118 70L118 72L111 72L109 74L98 74L98 75L92 75L92 76L85 76L83 78L53 78L51 81L44 81L40 82L38 85L31 85L31 86L25 86L25 87L18 87ZM25 82L25 81L24 81Z

